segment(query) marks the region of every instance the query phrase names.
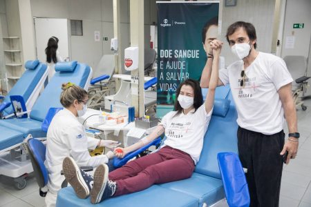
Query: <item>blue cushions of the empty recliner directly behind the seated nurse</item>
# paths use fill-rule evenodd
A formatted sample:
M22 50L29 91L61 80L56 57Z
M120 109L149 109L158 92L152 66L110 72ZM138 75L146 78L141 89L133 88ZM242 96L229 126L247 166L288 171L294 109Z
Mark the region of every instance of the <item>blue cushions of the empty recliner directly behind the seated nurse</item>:
M87 89L88 79L91 76L91 68L85 64L77 63L77 61L57 63L55 71L55 75L50 79L44 92L41 93L35 102L30 112L30 118L0 120L0 126L22 132L25 138L29 134L35 138L46 137L46 132L41 130L41 124L49 108L62 107L59 101L62 83L70 81L77 86ZM2 149L0 148L0 150Z

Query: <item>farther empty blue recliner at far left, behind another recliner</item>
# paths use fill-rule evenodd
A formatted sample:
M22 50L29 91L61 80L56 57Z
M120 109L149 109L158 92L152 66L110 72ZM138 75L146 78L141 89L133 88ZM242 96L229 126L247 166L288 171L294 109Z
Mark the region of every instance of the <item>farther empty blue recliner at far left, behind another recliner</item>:
M27 110L31 110L41 88L44 87L44 81L48 76L46 64L40 63L38 60L26 61L25 69L19 81L8 92L8 95L6 97L0 96L0 99L3 99L2 103L0 103L0 119L9 118L10 115L13 115L10 96L20 95L26 103Z

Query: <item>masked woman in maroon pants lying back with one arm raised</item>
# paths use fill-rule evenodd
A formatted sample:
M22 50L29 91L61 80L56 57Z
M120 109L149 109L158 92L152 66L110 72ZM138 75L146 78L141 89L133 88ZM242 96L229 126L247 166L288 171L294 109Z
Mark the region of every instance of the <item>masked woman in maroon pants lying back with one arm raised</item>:
M141 148L165 132L167 139L162 148L150 155L129 161L110 173L106 164L98 166L94 172L93 186L89 186L92 204L100 203L109 197L138 192L153 184L191 177L200 158L203 137L211 119L218 81L219 54L220 48L213 50L213 70L205 103L202 104L202 92L198 81L187 79L180 83L176 91L175 110L165 115L156 130L148 137L132 146L116 148L115 154L117 157L124 157L127 153ZM76 172L79 172L79 167L73 159L66 157L63 170L68 174L65 174L65 177L75 177ZM82 177L82 179L67 179L67 181L79 195L82 187L89 183L88 179ZM87 192L82 198L88 197Z

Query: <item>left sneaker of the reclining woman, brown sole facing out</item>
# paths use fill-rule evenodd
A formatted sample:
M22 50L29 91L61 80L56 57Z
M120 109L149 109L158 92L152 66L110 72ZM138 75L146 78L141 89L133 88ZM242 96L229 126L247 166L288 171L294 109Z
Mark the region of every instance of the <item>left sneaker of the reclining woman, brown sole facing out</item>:
M72 157L66 157L63 161L63 173L66 181L73 187L77 197L85 199L90 195L93 187L93 177L81 170Z

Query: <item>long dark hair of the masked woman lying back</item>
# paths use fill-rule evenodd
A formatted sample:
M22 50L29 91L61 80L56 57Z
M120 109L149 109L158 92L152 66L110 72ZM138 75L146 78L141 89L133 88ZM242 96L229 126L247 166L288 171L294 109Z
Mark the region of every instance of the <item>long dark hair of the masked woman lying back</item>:
M203 103L203 96L202 96L200 83L194 79L186 79L185 81L180 83L178 89L176 90L176 100L175 100L174 110L178 111L178 113L182 112L182 107L180 106L180 103L178 102L178 96L180 94L180 89L184 85L191 86L191 88L194 89L194 108L196 110L200 106L202 106L202 103Z

